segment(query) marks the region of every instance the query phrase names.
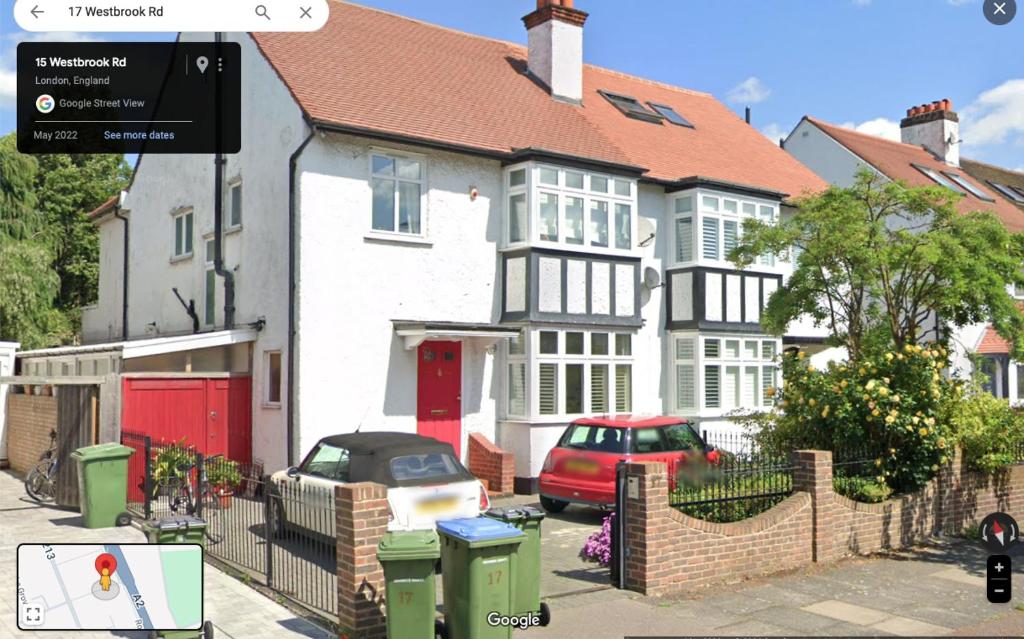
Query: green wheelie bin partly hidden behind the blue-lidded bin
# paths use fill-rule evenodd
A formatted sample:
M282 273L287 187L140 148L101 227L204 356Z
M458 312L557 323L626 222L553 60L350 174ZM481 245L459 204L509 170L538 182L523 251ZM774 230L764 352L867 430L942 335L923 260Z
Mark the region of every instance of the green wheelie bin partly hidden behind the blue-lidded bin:
M551 608L541 602L541 522L544 521L544 511L532 506L517 506L492 508L484 515L510 523L525 534L526 539L512 555L512 560L516 562L512 610L516 614L537 614L541 626L547 626L551 622Z

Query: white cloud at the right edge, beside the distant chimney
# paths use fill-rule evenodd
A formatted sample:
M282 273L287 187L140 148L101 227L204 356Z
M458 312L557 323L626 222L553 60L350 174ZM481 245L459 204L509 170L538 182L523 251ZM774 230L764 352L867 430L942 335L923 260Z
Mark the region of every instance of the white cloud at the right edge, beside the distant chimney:
M1002 144L1024 134L1024 78L1007 80L961 112L961 137L969 146Z

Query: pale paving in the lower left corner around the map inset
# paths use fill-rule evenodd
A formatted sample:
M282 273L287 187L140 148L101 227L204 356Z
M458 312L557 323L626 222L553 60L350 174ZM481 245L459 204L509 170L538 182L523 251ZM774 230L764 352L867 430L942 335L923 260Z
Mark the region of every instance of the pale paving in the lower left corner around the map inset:
M43 635L17 629L16 550L19 544L126 544L145 543L133 526L88 529L77 511L40 506L25 496L15 475L0 472L0 639L26 637L125 637L145 639L140 632L47 632ZM334 639L309 621L267 599L215 567L204 566L204 614L215 627L217 639L305 638Z

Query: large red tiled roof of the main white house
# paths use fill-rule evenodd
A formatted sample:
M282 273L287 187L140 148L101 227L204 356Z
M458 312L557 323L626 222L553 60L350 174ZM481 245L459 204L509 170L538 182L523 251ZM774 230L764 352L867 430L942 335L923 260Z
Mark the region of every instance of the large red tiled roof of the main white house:
M583 105L569 104L525 75L523 46L330 6L317 32L252 34L315 122L496 155L542 148L657 180L701 176L791 196L827 186L707 93L585 65ZM695 128L627 118L598 89L669 104Z

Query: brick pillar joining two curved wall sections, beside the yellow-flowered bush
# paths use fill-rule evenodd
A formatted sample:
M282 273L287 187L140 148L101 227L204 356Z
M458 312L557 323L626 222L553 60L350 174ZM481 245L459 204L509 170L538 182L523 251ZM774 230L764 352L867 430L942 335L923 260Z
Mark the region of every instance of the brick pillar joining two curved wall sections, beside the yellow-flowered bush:
M811 540L814 561L838 559L844 549L839 540L839 506L833 486L831 451L796 451L793 489L811 496Z

